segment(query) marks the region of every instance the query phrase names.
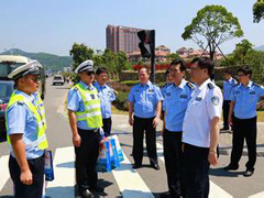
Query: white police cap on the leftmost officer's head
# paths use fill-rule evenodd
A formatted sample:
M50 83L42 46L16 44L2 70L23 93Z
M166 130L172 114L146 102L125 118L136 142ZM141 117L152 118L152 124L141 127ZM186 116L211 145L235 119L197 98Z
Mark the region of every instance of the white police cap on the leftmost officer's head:
M31 61L30 63L15 68L8 75L8 78L19 79L28 74L40 75L42 73L42 65L37 61Z

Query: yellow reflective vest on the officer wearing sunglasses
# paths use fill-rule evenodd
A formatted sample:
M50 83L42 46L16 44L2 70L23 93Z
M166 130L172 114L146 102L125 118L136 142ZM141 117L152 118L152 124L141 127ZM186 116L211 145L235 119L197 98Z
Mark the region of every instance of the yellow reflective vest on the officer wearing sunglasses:
M102 127L102 116L98 91L86 89L81 84L75 85L72 89L77 89L85 105L85 111L76 111L77 121L87 121L89 128Z

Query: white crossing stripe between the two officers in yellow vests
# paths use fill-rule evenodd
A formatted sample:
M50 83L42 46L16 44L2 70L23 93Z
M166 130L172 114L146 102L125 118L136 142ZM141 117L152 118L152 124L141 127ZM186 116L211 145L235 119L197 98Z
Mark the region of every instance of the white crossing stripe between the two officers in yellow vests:
M74 147L56 148L53 161L54 176L53 182L48 182L46 196L73 198L75 196L75 154Z

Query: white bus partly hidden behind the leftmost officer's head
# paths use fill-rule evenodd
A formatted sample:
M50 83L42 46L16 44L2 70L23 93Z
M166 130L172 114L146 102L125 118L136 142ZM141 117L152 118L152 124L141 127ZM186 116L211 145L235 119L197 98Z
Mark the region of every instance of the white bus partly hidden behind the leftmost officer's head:
M31 59L25 56L19 55L0 55L0 80L10 80L8 75L18 68L21 65L28 64ZM41 75L41 85L38 91L41 94L41 98L45 98L46 94L46 76L45 70Z

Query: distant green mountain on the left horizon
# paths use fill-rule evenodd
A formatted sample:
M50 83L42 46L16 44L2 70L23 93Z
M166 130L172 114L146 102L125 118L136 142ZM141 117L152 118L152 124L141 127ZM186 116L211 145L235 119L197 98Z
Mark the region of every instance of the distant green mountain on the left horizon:
M64 70L64 67L69 67L73 64L73 58L70 56L57 56L47 53L28 53L19 48L12 48L1 55L21 55L26 56L31 59L37 59L46 68L51 68L52 72Z

